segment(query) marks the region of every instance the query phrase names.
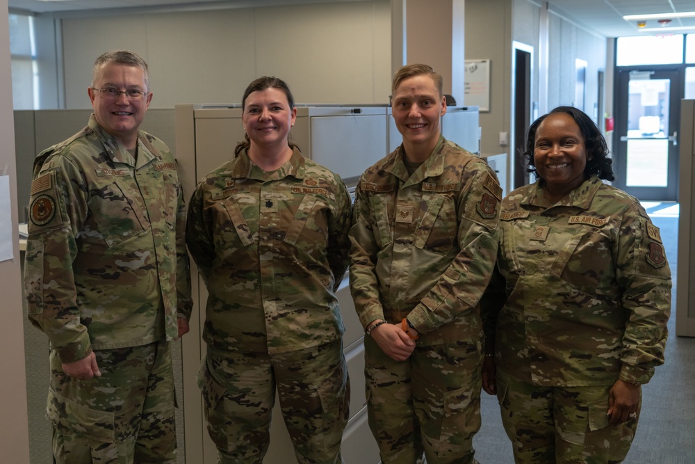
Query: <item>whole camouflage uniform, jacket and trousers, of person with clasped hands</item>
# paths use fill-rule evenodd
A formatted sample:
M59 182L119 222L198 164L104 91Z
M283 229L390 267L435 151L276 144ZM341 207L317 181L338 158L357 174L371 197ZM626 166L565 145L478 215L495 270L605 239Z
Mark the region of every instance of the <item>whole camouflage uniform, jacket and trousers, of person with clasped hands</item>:
M357 185L350 287L359 319L421 334L396 362L365 337L370 428L384 463L471 463L480 428L482 322L501 189L487 163L440 136L412 175L403 148Z

